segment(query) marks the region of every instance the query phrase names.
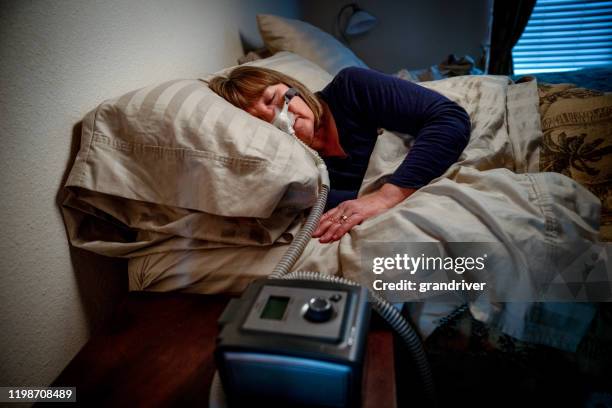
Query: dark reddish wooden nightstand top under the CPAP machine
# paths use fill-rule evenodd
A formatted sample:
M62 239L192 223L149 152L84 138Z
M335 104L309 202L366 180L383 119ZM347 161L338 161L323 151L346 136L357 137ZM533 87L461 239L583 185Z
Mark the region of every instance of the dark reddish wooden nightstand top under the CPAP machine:
M131 292L52 386L96 406L208 406L217 318L229 298ZM395 407L393 336L374 315L363 407Z

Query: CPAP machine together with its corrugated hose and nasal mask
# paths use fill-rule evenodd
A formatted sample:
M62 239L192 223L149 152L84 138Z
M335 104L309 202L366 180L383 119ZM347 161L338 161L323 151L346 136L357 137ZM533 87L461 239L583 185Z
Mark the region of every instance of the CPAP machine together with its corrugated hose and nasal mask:
M294 137L295 118L288 107L297 94L289 88L272 122ZM253 282L219 318L218 371L209 406L359 407L371 308L407 344L435 405L420 339L392 304L348 279L289 273L319 223L330 185L321 157L302 145L319 169L319 197L270 277Z

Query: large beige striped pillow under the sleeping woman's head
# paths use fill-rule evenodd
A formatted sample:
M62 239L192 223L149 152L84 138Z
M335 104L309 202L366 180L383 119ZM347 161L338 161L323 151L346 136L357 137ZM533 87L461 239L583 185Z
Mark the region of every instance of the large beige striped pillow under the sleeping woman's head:
M288 53L258 63L276 64L313 91L331 79ZM180 79L88 114L66 187L73 245L131 257L172 250L170 242L192 245L185 240L198 247L287 242L283 234L316 200L318 170L294 138L203 81Z

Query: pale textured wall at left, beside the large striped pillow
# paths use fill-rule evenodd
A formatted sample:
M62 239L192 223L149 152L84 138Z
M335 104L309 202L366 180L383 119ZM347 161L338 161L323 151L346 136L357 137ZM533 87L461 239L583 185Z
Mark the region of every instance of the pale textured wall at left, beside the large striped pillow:
M299 4L2 2L0 385L49 384L126 288L123 263L68 248L56 195L75 124L105 98L234 65L261 46L259 12Z

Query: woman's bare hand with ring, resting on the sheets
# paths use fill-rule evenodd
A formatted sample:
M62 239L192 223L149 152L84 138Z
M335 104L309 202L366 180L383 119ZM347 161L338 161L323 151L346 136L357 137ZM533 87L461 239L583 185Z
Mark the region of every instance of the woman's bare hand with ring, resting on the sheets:
M337 241L355 225L395 207L415 191L387 183L374 193L345 201L323 214L312 236L323 244Z

